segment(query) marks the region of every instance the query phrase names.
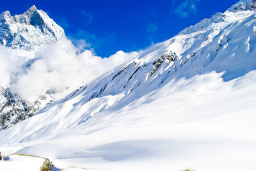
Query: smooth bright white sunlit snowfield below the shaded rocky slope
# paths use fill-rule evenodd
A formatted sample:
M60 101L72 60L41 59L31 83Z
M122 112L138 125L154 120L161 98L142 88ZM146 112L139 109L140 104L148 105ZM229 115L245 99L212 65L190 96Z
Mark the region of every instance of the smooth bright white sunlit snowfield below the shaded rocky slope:
M255 80L255 71L230 82L214 72L181 79L81 124L99 101L74 107L80 96L4 131L1 144L57 168L254 170Z

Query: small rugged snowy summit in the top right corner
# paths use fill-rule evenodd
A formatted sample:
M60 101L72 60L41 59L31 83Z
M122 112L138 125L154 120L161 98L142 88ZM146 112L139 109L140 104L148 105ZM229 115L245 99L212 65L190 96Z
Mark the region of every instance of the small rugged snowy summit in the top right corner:
M240 0L231 8L228 9L228 11L245 11L245 10L255 10L256 8L256 1L255 0Z

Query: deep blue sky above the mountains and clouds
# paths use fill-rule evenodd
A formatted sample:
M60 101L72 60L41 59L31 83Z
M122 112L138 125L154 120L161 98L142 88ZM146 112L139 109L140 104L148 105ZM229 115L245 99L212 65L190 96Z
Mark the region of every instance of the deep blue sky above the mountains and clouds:
M78 47L93 48L97 56L108 57L118 50L131 52L172 38L237 1L13 0L1 2L0 11L20 14L35 4L63 27Z

